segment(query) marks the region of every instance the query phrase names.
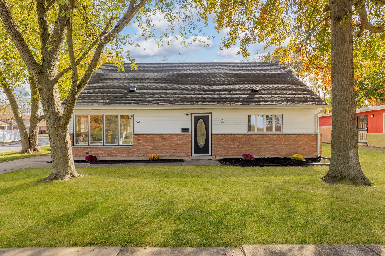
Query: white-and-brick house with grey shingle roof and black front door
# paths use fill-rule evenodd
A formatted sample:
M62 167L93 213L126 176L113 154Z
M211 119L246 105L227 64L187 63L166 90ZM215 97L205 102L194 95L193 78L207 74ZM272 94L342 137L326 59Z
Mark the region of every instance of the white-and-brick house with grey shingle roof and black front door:
M282 64L137 65L104 63L79 95L75 159L321 154L316 116L328 105Z

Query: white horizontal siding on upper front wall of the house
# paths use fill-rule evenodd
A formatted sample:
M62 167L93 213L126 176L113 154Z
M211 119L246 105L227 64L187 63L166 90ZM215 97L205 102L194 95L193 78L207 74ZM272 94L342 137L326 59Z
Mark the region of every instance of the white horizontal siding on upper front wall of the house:
M314 133L317 109L159 109L76 110L74 114L134 114L134 133L180 133L191 129L191 114L213 113L212 132L247 133L247 114L283 114L283 133ZM224 122L221 122L224 120ZM74 131L74 120L70 132Z

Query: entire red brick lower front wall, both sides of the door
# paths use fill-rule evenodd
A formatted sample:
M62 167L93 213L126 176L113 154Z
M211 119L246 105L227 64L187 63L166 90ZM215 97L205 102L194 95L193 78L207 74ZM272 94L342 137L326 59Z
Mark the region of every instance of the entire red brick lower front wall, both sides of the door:
M73 134L70 136L73 141ZM316 157L316 143L316 134L212 134L212 155L240 157L248 153L255 157L283 157L301 154ZM132 147L72 147L74 157L85 157L85 152L97 157L145 158L156 154L186 158L191 156L191 134L134 134Z

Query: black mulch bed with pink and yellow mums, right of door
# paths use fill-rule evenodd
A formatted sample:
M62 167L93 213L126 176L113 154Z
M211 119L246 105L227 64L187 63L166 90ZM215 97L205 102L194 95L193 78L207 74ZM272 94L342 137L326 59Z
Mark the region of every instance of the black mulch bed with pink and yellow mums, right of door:
M329 165L320 163L320 158L305 158L305 161L292 160L290 157L258 157L255 160L242 158L223 158L219 162L233 166L301 166L301 165Z

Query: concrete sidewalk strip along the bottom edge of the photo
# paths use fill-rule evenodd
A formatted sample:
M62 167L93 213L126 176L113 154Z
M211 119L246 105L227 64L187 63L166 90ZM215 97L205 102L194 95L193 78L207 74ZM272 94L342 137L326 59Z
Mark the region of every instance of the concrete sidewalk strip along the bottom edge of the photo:
M9 248L0 249L1 256L385 256L383 245L243 245L232 247L154 248L118 246Z

